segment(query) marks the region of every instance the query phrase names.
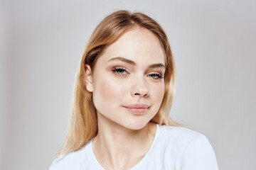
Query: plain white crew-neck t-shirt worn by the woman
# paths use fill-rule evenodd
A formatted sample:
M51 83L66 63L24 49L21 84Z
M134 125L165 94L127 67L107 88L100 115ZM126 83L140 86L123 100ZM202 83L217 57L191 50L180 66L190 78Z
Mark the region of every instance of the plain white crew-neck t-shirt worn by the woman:
M105 170L92 151L92 141L76 152L55 159L50 170ZM208 139L187 128L156 125L154 141L144 158L130 170L218 170Z

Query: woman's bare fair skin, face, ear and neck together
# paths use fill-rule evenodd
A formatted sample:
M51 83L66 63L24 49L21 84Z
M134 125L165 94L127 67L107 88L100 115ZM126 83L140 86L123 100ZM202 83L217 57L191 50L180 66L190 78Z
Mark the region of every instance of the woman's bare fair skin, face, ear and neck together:
M164 51L156 36L132 28L85 64L87 91L97 109L98 133L92 149L105 169L129 169L154 140L156 115L164 98Z

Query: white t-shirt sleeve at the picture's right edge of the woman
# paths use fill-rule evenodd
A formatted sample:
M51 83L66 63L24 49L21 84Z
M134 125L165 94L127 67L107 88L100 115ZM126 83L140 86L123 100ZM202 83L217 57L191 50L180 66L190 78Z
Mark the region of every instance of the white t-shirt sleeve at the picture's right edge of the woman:
M198 135L183 153L183 170L218 170L218 164L207 137Z

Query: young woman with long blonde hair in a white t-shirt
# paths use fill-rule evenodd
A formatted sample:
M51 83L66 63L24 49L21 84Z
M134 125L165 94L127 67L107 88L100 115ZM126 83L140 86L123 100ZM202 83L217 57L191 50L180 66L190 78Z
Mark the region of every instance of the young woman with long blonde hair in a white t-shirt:
M50 170L218 169L198 132L169 118L175 64L156 21L117 11L87 43L68 134Z

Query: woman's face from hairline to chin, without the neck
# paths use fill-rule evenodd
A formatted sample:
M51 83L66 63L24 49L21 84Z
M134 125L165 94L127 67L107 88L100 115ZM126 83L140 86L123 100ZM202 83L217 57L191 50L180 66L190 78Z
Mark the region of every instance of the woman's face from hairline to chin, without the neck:
M156 36L133 28L107 47L92 71L99 123L139 130L164 98L164 51Z

